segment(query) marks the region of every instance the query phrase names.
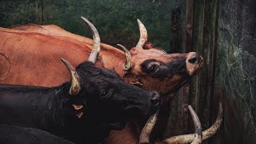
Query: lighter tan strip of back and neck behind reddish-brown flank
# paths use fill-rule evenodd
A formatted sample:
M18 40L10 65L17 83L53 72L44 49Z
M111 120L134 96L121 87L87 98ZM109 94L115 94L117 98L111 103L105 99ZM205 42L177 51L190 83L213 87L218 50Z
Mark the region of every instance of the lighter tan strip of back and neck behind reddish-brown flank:
M4 28L2 29L7 30ZM20 30L22 30L23 33L35 32L39 34L58 36L62 38L70 38L78 43L81 42L80 44L84 44L85 47L87 46L90 49L92 48L94 43L94 41L90 38L86 38L78 34L72 34L69 31L63 30L61 27L55 26L55 25L39 26L35 24L29 24L24 26L14 26L12 27L12 30L10 29L8 30L13 32L21 32ZM80 49L84 48L82 45L80 46L81 46ZM86 51L89 52L90 50L86 50ZM101 43L100 55L97 62L98 66L102 66L107 69L114 70L119 74L120 77L122 77L124 74L124 71L122 71L122 65L124 62L125 62L125 54L124 52L122 52L122 50L118 50L114 46Z

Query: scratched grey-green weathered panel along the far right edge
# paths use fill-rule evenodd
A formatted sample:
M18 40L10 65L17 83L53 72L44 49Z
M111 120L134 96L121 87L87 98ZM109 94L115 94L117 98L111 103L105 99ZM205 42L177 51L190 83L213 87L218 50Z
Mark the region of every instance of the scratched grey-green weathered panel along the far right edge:
M225 106L223 143L256 143L256 2L220 1L216 94Z

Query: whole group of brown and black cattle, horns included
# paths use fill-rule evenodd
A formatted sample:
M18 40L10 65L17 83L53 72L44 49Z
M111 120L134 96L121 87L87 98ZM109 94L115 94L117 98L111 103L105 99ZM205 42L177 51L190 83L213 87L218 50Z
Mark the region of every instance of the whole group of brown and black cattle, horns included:
M166 54L147 42L138 20L138 44L127 50L54 25L0 27L0 143L201 143L214 135L193 108L194 134L150 136L170 95L201 70L202 57ZM159 115L158 115L159 114Z

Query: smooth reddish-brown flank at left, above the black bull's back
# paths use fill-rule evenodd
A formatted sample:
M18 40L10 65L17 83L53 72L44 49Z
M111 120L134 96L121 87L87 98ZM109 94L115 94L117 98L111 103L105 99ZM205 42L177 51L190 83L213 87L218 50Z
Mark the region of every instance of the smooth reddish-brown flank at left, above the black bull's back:
M0 53L10 63L10 70L4 72L8 74L1 78L1 83L58 86L70 79L70 74L60 58L65 58L73 66L77 66L90 54L90 50L86 55L86 49L79 49L85 47L82 43L73 40L67 43L61 37L14 32L1 33L0 37ZM50 49L53 46L54 49ZM70 50L69 47L74 49ZM53 77L54 75L61 77Z

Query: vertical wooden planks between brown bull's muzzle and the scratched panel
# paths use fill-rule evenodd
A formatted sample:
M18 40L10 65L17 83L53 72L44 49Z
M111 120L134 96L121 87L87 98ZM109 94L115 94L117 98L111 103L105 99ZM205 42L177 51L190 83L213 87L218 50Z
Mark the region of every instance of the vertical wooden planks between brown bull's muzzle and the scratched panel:
M193 50L202 54L205 63L202 72L190 85L190 103L195 107L202 128L205 130L218 114L218 98L214 97L218 0L195 2L195 7ZM193 132L193 130L194 126L190 121L189 131ZM218 143L218 139L211 138L210 143Z

